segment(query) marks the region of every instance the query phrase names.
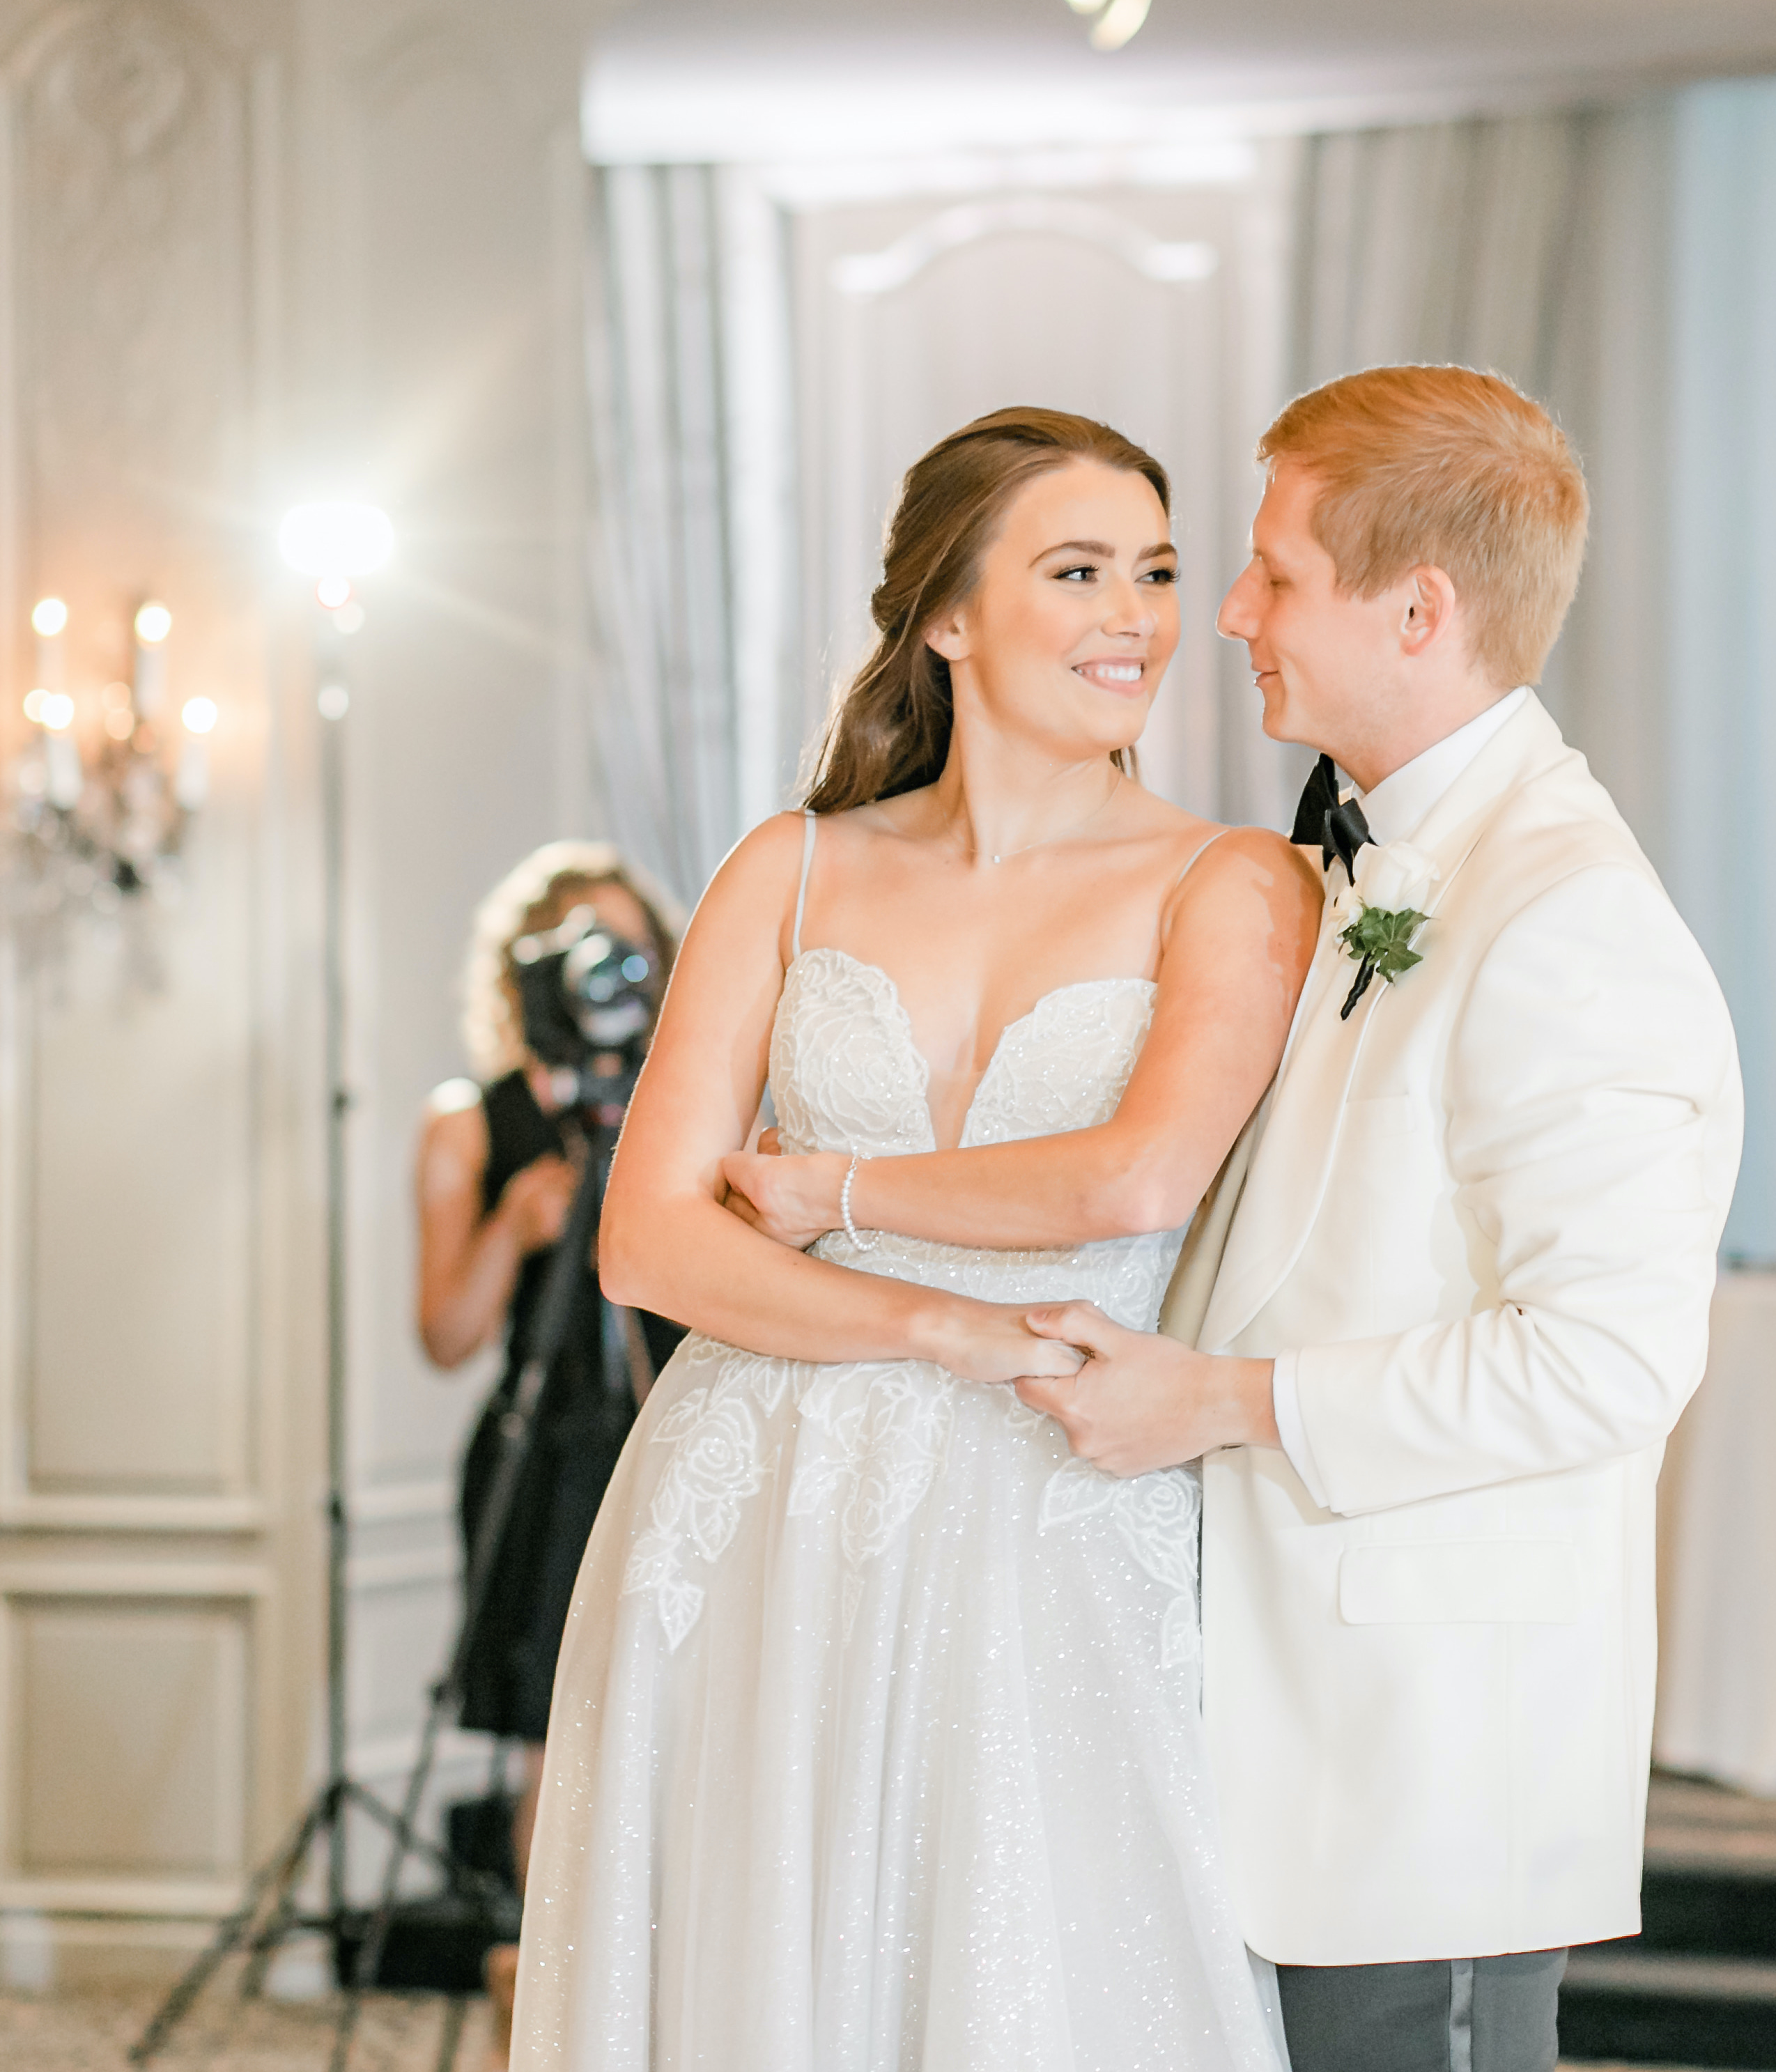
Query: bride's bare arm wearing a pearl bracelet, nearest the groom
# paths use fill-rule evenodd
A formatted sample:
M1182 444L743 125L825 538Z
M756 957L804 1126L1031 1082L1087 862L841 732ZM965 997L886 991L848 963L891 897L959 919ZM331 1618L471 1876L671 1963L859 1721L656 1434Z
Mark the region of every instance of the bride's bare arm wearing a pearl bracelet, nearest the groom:
M1299 850L1264 829L1223 835L1167 910L1152 1030L1117 1113L1053 1138L870 1158L852 1220L1007 1247L1187 1222L1277 1071L1318 924L1318 872ZM806 1243L839 1222L846 1164L738 1156L725 1175L765 1229Z

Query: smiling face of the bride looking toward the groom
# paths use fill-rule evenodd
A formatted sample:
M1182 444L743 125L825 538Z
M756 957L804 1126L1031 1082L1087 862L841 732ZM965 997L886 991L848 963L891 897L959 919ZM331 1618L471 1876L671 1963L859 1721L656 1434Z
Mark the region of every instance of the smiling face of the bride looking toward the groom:
M926 636L957 715L1065 756L1127 748L1177 646L1177 551L1152 483L1073 460L1011 499L974 595Z

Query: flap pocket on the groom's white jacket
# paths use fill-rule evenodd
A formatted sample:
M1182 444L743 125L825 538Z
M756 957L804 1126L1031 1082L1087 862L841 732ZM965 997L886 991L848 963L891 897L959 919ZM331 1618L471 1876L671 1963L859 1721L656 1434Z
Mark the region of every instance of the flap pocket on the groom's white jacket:
M1339 1616L1347 1627L1571 1627L1579 1616L1579 1550L1571 1539L1345 1548Z

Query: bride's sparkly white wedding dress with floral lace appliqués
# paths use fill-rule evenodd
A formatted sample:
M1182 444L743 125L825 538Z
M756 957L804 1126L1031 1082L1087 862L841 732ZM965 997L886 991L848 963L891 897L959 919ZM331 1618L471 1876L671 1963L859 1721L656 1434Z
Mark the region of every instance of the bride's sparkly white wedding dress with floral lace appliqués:
M800 939L800 914L798 914ZM964 1144L1115 1109L1140 978L1005 1030ZM800 951L785 1150L933 1148L893 982ZM1177 1235L823 1258L1150 1328ZM1198 1718L1200 1490L1009 1388L690 1336L605 1496L555 1674L514 2072L1277 2072Z

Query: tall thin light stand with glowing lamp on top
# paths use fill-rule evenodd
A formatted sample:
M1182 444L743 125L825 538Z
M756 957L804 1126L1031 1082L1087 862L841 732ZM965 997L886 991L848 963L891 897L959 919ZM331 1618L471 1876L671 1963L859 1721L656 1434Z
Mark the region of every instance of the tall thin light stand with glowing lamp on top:
M298 506L284 520L284 557L317 578L319 605L332 613L321 642L321 879L323 879L323 1024L327 1088L327 1776L309 1801L284 1844L247 1883L240 1906L184 1970L153 2020L131 2047L131 2064L143 2066L160 2053L172 2031L191 2012L203 1987L234 1952L247 1952L242 1997L255 1995L276 1950L294 1933L319 1931L330 1952L346 1929L346 1817L352 1807L377 1821L404 1852L458 1875L452 1859L412 1832L346 1769L346 1115L352 1104L346 1084L346 744L344 717L350 704L344 671L338 667L334 636L348 630L344 611L354 611L350 578L369 574L388 559L394 535L388 518L354 503ZM298 1892L315 1842L327 1838L325 1910L303 1912ZM342 2002L334 2028L334 2072L344 2072L356 2026L361 1985ZM452 2004L446 2024L446 2064L454 2057L462 2028L462 2004Z

